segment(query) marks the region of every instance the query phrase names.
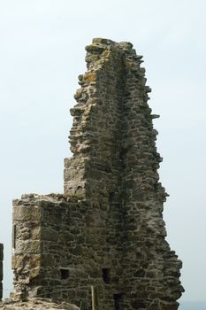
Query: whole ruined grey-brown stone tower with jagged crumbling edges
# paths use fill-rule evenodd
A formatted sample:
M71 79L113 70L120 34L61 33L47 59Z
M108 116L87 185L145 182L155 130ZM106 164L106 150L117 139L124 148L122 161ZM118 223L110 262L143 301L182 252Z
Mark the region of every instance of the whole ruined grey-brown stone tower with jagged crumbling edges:
M13 202L14 298L98 310L176 310L181 261L165 241L162 160L131 43L94 39L71 109L65 192Z

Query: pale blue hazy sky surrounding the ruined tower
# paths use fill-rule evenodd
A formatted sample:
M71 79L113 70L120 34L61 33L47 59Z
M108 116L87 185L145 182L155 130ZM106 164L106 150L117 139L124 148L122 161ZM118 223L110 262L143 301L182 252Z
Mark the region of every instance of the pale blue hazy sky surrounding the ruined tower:
M183 260L182 299L206 288L206 1L0 0L0 242L4 296L12 288L11 200L62 192L69 109L93 37L129 41L144 57L161 118L164 220ZM8 290L8 291L7 291Z

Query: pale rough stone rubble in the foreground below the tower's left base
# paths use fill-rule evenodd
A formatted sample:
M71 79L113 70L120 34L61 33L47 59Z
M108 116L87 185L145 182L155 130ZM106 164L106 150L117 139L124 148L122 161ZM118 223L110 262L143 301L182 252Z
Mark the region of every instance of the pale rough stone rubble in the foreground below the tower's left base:
M0 303L1 310L80 310L78 306L68 304L66 302L54 303L51 299L47 298L31 298L27 302L13 302L7 299Z

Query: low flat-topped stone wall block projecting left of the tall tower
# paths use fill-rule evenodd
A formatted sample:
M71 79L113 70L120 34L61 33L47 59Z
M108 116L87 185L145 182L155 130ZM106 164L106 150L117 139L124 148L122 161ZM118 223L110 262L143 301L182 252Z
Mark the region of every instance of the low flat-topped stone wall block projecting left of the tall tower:
M94 206L85 199L34 194L24 195L13 205L13 297L60 298L86 310L91 307L91 285L95 285L101 309L112 308L113 295L110 285L103 282L103 269L111 268L112 283L117 282L115 269L121 270L119 264L111 267L107 228L105 222L101 227L97 224L101 214L99 220L94 218Z

